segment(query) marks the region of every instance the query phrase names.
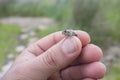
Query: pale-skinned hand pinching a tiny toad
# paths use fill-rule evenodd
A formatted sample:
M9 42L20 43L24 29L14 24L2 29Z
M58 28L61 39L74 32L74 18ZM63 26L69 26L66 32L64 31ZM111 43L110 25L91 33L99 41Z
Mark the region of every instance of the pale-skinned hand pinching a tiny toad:
M102 50L90 44L90 36L76 30L65 37L61 31L28 46L2 80L97 80L106 67L100 62Z

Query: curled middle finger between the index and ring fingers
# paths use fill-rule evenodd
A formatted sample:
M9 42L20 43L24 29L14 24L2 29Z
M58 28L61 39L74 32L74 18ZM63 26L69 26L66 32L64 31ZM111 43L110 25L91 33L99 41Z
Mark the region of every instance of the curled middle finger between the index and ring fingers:
M82 49L81 55L72 63L72 65L100 61L102 56L102 50L98 46L88 44Z

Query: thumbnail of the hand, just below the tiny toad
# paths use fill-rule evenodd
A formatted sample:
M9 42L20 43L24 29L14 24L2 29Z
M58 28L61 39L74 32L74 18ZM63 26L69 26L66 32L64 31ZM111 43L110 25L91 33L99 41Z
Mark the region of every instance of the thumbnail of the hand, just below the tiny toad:
M62 44L62 49L66 54L74 53L77 49L77 43L75 39L73 37L66 38Z

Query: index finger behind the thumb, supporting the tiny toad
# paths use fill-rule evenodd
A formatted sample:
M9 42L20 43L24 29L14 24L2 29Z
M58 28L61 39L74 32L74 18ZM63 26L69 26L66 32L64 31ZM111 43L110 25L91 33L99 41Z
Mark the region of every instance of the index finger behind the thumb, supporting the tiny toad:
M82 46L85 46L90 42L90 36L88 35L88 33L84 32L84 31L80 31L80 30L77 30L75 32L77 33L78 38L80 39L80 41L82 43ZM65 36L62 34L61 31L56 32L56 33L46 36L45 38L42 38L35 44L28 47L27 50L35 55L39 55L39 54L45 52L46 50L48 50L51 46L58 43L63 38L65 38Z

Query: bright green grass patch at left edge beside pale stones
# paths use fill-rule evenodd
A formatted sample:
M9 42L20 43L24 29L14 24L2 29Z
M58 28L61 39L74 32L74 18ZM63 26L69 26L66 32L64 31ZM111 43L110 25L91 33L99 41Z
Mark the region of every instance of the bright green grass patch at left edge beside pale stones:
M5 63L7 54L15 53L20 33L18 26L0 24L0 67Z

